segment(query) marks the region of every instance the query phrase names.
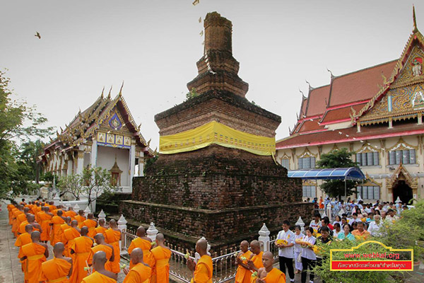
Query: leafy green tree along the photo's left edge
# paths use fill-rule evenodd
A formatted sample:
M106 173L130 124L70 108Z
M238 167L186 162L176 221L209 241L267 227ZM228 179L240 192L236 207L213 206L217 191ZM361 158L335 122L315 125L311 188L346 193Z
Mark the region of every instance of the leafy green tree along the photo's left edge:
M0 71L0 198L14 193L34 190L33 172L19 158L19 144L36 137L46 137L52 127L43 128L47 119L25 101L13 99L8 88L10 79Z

